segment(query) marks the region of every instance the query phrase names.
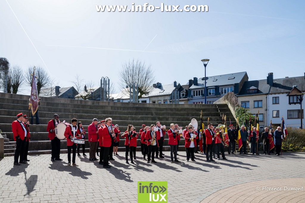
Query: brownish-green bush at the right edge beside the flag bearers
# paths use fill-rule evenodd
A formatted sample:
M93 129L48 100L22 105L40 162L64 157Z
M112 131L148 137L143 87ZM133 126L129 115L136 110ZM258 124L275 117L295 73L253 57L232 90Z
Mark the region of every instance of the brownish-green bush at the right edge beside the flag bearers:
M299 151L305 146L305 129L287 128L288 135L283 139L283 151Z

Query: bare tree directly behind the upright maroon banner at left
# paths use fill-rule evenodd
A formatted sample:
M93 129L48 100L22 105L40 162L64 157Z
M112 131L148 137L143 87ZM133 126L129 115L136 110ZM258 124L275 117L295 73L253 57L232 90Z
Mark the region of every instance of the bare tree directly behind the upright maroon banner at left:
M33 74L33 66L27 69L26 81L27 81L27 85L29 86L32 86L31 74ZM47 86L48 83L50 82L50 77L48 75L48 72L40 66L36 67L35 76L37 77L37 92L39 95L41 88Z

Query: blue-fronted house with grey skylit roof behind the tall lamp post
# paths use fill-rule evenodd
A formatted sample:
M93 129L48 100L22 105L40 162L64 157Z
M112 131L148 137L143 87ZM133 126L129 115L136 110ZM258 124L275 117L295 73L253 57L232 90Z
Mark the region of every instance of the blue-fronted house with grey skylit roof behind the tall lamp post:
M248 81L247 72L215 75L205 78L189 80L188 103L204 103L204 86L206 85L206 103L212 104L228 92L238 94L244 82Z

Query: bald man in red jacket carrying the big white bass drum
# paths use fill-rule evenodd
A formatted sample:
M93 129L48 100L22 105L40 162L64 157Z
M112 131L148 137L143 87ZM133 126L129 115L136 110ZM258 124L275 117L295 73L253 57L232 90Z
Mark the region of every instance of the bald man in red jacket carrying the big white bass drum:
M60 159L60 139L58 139L55 135L54 129L56 128L56 125L59 124L59 115L54 114L53 119L48 122L47 126L47 132L48 132L48 138L51 140L51 148L52 148L52 156L51 161L59 160L62 161L63 159Z

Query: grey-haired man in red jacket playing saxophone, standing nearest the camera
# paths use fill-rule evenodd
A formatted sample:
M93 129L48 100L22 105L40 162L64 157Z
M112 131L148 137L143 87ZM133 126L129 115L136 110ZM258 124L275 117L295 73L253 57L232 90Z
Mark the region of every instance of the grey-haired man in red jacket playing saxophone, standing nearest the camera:
M105 119L105 127L102 129L102 142L104 147L104 156L103 156L103 168L110 168L108 164L109 159L109 148L111 146L111 142L113 137L115 137L115 133L111 133L111 123L112 118ZM132 156L132 155L131 155Z

